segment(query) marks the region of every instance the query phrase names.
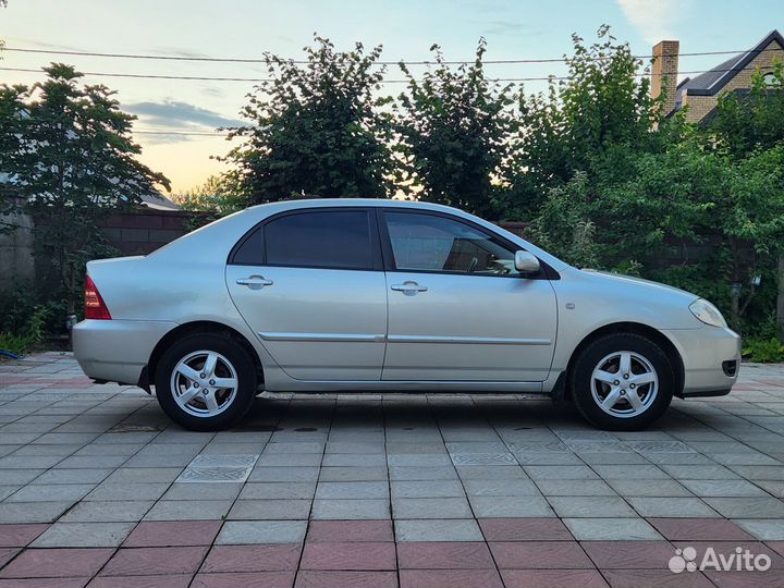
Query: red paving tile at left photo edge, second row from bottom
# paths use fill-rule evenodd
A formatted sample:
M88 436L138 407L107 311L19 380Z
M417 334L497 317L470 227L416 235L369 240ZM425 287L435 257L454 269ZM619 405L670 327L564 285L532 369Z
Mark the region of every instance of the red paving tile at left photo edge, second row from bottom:
M89 578L113 552L113 549L27 549L0 571L0 578Z

